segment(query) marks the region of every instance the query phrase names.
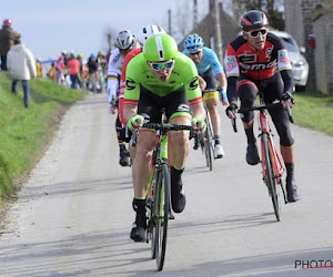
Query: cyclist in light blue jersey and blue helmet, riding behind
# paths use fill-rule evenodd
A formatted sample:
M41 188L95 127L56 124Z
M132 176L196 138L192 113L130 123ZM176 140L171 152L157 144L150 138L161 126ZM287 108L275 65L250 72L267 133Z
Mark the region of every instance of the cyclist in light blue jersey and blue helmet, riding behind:
M223 105L228 105L226 100L226 79L222 64L220 63L216 53L206 47L203 47L203 39L196 34L190 34L184 41L183 53L192 59L200 76L201 90L206 90L203 93L206 101L206 107L210 113L214 132L214 156L221 158L224 155L224 150L220 142L220 115L218 111L219 98ZM221 92L216 90L216 79L219 80ZM198 141L194 142L194 150L199 146Z

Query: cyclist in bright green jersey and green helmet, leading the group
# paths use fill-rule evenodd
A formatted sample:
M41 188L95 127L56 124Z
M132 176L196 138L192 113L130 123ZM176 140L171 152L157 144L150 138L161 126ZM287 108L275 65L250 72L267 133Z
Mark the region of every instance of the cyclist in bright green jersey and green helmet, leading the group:
M203 132L205 112L195 64L178 51L174 39L169 34L157 34L147 40L143 52L128 64L125 83L123 114L130 129L140 127L143 120L160 123L161 109L165 109L170 123L192 124ZM189 153L189 131L170 133L171 204L175 213L181 213L185 207L181 176ZM137 215L131 238L135 242L143 242L145 236L144 198L154 137L151 130L140 130L132 166Z

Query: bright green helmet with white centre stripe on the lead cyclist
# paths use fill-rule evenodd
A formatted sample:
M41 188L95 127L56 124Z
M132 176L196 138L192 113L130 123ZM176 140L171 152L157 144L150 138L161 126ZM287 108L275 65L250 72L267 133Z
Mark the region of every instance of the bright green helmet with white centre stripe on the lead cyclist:
M143 45L143 57L149 62L168 61L174 59L176 54L176 43L167 33L150 37Z

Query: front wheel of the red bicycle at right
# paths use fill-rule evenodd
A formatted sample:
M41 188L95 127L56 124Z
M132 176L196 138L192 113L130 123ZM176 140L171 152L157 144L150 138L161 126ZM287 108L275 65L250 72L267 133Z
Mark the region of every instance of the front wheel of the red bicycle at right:
M273 155L271 147L269 145L268 134L262 134L262 144L264 150L264 166L265 166L265 184L269 188L269 193L273 203L274 214L276 220L281 220L281 205L278 193L278 182L275 178L274 166L273 166Z

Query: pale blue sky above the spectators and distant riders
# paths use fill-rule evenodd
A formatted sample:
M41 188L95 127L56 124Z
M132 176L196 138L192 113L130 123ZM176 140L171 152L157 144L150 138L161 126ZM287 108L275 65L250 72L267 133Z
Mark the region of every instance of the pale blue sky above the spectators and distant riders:
M87 58L107 50L105 32L128 29L138 34L147 24L159 24L168 31L168 9L172 14L180 7L186 14L192 0L1 0L0 18L12 20L12 28L22 34L22 43L36 59L57 59L62 50L74 50ZM198 1L199 18L206 14L209 0ZM185 22L192 27L192 16ZM176 22L172 21L172 30ZM190 29L191 30L191 29Z

